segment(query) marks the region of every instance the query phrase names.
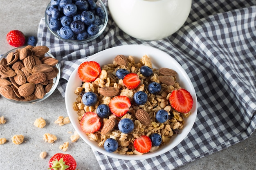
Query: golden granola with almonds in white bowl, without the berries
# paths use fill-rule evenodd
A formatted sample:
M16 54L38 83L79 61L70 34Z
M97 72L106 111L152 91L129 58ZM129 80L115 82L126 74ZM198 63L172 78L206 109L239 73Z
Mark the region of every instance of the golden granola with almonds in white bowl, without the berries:
M135 62L134 57L132 56L126 57L126 59L124 57L120 57L120 55L117 57L121 58L121 60L114 60L113 63L102 66L101 72L99 73L97 79L92 82L82 82L82 86L77 87L74 91L77 98L73 103L73 109L77 111L79 122L85 113L97 113L97 107L99 105L109 105L113 95L103 95L104 93L101 93L101 89L105 87L114 87L118 90L118 95L126 96L130 99L132 106L122 117L110 114L107 118L101 119L103 124L101 128L104 127L104 124L106 124L106 122L112 118L114 118L117 122L119 122L121 119L128 118L134 122L134 129L130 133L124 133L117 128L117 124L113 123L113 127L111 127L112 129L107 131L107 133L103 133L102 129L93 133L87 133L89 139L92 141L97 141L98 145L103 147L106 139L113 138L118 141L118 148L115 152L127 155L141 154L134 149L133 143L135 139L143 135L150 136L153 133L158 133L162 137L162 144L160 146L167 144L173 135L178 134L179 130L183 129L183 125L185 123L184 117L188 117L191 114L191 111L188 113L177 112L170 106L168 102L171 92L181 88L180 84L176 82L175 71L170 69L174 75L168 75L166 76L166 79L166 77L163 77L160 73L161 71L164 72L166 70L162 69L159 71L159 69L152 68L152 63L147 55L144 55L138 63ZM141 66L148 66L152 68L153 75L150 77L145 77L140 73ZM129 73L135 73L139 76L141 82L137 88L129 89L124 85L123 79L117 78L116 72L120 68L124 68L128 70ZM151 82L161 83L162 89L159 93L149 93L146 87L148 87L148 84ZM133 96L137 91L144 91L146 93L148 96L146 104L134 104ZM93 92L97 95L98 101L95 105L87 106L83 103L82 96L86 92ZM107 93L108 90L105 92ZM148 113L150 117L150 122L148 122L149 124L143 122L145 119L147 119L146 117L143 117L140 120L136 117L137 110L144 110L146 113ZM159 123L156 120L156 113L158 110L166 110L168 112L168 119L164 123ZM109 129L110 127L108 130ZM153 152L160 146L152 147L150 151Z

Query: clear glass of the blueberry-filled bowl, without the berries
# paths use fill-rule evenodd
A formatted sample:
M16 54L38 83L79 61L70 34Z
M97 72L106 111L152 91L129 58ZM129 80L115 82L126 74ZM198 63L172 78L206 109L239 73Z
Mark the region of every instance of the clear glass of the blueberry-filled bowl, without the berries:
M58 38L59 40L62 40L62 41L68 42L68 43L72 43L72 44L83 44L83 43L90 42L90 41L96 39L97 37L99 37L104 32L104 30L106 29L106 26L108 24L108 9L107 9L106 5L101 0L97 0L96 4L99 7L102 7L104 12L106 13L106 18L105 18L104 23L99 26L99 33L97 33L96 35L90 36L89 38L87 38L85 40L64 39L64 38L61 38L56 31L52 31L50 29L49 22L48 22L49 21L49 15L47 15L46 10L51 5L51 2L47 5L47 7L45 9L45 23L46 23L46 26L49 29L49 31L52 33L52 35L54 35L54 37Z

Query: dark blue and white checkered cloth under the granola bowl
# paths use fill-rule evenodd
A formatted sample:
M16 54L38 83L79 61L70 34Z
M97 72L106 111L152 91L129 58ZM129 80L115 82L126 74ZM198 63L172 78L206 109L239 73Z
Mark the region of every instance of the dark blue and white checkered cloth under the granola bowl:
M105 2L107 5L107 2ZM110 16L106 31L82 45L54 38L44 19L38 44L46 45L61 64L58 90L85 58L125 44L144 44L165 51L188 73L198 97L198 115L189 135L172 150L152 159L128 161L94 151L106 170L174 169L249 137L256 128L255 0L192 0L184 26L168 38L142 41L121 31Z

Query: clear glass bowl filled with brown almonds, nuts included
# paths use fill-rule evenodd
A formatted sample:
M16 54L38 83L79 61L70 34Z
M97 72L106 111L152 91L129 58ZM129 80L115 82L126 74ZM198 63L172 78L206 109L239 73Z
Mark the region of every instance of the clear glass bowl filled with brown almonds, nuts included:
M47 46L22 46L0 58L0 95L17 104L49 97L60 79L58 60Z

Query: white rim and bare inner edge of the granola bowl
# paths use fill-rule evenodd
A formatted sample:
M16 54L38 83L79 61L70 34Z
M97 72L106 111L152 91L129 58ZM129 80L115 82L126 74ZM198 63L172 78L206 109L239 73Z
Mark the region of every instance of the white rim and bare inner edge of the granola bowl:
M165 55L166 57L168 56L168 60L172 61L172 64L177 64L177 68L181 69L178 71L178 74L180 74L181 77L185 77L186 82L183 82L185 84L189 84L186 86L189 86L189 89L187 88L187 90L191 93L194 103L193 103L193 108L192 108L192 114L185 119L189 119L189 122L186 121L186 125L184 126L184 129L181 130L181 132L179 133L182 134L182 136L180 136L179 138L175 137L175 138L171 138L171 141L168 145L165 145L161 148L159 148L157 151L155 152L148 152L146 154L143 155L121 155L118 153L110 153L110 152L106 152L106 150L104 150L104 148L101 148L99 146L97 146L97 142L95 141L90 141L90 139L88 138L88 136L84 133L81 132L81 128L79 127L79 123L78 123L78 115L77 112L75 112L72 108L72 103L75 101L70 101L70 98L72 98L72 95L74 96L74 90L76 87L74 86L74 82L75 80L77 80L78 74L77 74L77 70L78 70L78 66L77 68L73 71L72 75L70 76L70 79L67 82L67 86L66 86L66 91L65 91L65 105L66 105L66 110L67 110L67 114L70 117L70 121L72 123L72 126L75 128L76 132L79 134L79 136L94 150L97 150L98 152L101 152L104 155L113 157L113 158L117 158L117 159L124 159L124 160L141 160L141 159L148 159L148 158L152 158L152 157L156 157L159 156L161 154L164 154L165 152L173 149L174 147L176 147L178 144L180 144L181 141L184 140L184 138L189 134L189 132L191 131L193 124L195 123L195 119L197 116L197 111L198 111L198 105L197 105L197 97L196 97L196 93L195 93L195 88L193 87L193 84L190 80L190 78L188 77L187 73L184 71L184 69L180 66L180 64L178 64L178 62L171 57L170 55L168 55L167 53L156 49L154 47L151 46L145 46L145 45L135 45L135 44L131 44L131 45L123 45L123 46L116 46L116 47L112 47L103 51L100 51L90 57L88 57L87 59L85 59L84 61L95 61L95 59L99 57L101 58L100 60L105 60L103 59L103 57L108 57L110 54L106 54L106 53L111 53L111 55L113 56L112 60L114 60L114 56L113 54L120 54L120 51L122 51L123 49L128 49L127 51L129 51L128 53L130 53L132 55L132 53L141 53L141 51L150 51L147 55L150 57L150 53L152 55L160 55L163 56ZM124 53L123 53L124 54ZM124 54L127 55L127 54ZM143 54L145 55L145 53ZM133 57L135 57L134 55L132 55ZM142 56L137 56L139 57L139 59ZM138 58L137 58L138 59ZM152 58L150 58L152 59ZM152 61L152 60L151 60ZM152 62L153 63L153 62ZM106 63L105 63L106 64ZM159 65L154 66L154 68L159 68ZM181 71L181 72L180 72ZM183 86L184 87L184 86ZM70 89L69 91L67 91L67 89ZM72 116L72 114L75 114ZM175 140L176 139L176 140ZM93 143L95 142L95 143Z

